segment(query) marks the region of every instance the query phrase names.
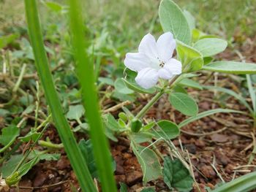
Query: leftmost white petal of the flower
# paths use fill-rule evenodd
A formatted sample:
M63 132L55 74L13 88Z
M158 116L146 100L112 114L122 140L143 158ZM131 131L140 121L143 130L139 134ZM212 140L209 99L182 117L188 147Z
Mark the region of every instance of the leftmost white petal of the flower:
M144 53L127 53L124 59L124 65L135 72L139 72L150 64L150 59Z

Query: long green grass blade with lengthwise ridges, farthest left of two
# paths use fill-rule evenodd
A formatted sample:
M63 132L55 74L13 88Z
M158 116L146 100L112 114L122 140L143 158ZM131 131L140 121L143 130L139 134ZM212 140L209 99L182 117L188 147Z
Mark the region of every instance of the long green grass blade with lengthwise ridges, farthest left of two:
M26 19L29 25L29 37L33 47L37 72L40 81L42 82L42 87L45 90L45 97L50 106L53 121L59 132L59 137L61 137L69 161L78 177L80 187L83 191L96 191L91 174L86 166L86 161L84 160L69 124L64 117L64 112L61 109L61 102L59 101L59 97L54 87L53 77L50 73L48 58L42 41L36 0L25 0L25 7Z

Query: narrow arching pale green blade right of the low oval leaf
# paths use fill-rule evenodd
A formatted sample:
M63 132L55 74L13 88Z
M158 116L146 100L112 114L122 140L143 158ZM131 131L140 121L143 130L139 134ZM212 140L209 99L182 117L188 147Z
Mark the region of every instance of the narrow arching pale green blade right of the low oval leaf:
M237 112L237 113L244 113L241 111L236 111L236 110L227 110L227 109L214 109L214 110L208 110L206 112L200 112L197 114L195 117L187 118L186 120L182 121L181 123L178 124L178 127L181 128L183 126L187 126L187 124L192 123L195 120L199 120L200 118L205 118L208 115L214 115L215 113L219 112Z

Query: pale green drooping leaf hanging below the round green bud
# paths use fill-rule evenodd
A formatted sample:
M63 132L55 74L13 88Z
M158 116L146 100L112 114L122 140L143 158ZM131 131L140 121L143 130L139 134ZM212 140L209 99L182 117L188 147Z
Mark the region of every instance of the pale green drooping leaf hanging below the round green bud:
M133 153L135 153L143 171L143 183L148 183L151 180L157 180L162 175L161 165L157 158L157 154L147 147L131 143Z

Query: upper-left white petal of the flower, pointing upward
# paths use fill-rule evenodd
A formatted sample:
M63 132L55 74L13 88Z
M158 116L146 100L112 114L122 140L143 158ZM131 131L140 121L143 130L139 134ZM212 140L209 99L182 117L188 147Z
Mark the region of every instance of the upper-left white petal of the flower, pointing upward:
M157 58L157 43L156 39L151 34L146 34L143 39L141 39L139 45L139 53L146 54L149 58Z

